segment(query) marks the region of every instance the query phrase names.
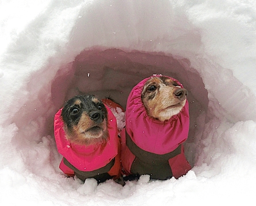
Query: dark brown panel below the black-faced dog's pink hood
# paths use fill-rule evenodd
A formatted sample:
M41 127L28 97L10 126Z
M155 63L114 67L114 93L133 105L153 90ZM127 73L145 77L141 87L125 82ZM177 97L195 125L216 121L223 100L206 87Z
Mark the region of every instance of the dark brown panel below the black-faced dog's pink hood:
M68 162L68 160L66 158L63 158L63 162L70 169L74 170L75 175L80 180L85 181L87 178L95 178L98 182L103 182L103 181L111 178L111 176L108 174L108 172L115 164L115 158L113 158L106 166L104 166L100 169L90 171L90 172L81 171L81 170L75 168L72 164L70 164Z

